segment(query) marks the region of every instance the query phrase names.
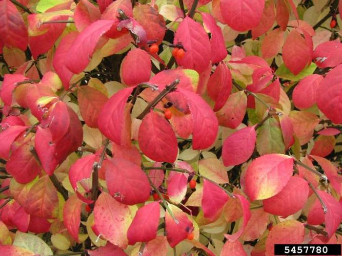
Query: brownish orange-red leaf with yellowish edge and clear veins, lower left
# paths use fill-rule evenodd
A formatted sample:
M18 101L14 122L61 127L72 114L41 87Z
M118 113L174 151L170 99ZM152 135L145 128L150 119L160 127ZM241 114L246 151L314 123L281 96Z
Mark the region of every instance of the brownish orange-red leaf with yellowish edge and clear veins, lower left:
M43 176L33 184L24 207L28 214L36 217L45 219L55 219L57 217L57 190L48 175Z

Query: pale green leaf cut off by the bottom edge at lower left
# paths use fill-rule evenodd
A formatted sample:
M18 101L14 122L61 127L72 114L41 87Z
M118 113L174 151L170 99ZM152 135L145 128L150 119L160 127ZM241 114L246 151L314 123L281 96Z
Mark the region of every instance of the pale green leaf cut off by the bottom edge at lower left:
M50 247L41 238L34 234L16 231L13 245L28 249L41 256L53 255Z

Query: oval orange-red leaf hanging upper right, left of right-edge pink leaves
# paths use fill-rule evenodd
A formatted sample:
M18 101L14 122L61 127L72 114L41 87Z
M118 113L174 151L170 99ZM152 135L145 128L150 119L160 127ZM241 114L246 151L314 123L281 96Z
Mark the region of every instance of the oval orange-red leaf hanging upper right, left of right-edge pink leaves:
M307 66L312 54L308 42L299 31L292 30L283 46L284 64L294 75L299 74Z

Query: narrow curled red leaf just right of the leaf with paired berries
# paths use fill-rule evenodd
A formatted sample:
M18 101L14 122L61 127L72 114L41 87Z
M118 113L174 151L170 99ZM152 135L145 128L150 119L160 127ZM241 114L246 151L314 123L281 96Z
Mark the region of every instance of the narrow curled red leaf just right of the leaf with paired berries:
M210 49L211 49L211 62L216 63L224 60L227 56L225 39L220 27L216 25L216 20L209 13L201 12L203 23L211 33Z

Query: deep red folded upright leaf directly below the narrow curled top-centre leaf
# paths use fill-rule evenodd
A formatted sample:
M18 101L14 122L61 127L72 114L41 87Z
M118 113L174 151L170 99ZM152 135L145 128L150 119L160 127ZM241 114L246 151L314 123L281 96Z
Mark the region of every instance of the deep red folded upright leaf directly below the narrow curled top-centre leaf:
M223 62L219 63L215 72L210 76L207 84L209 97L216 101L214 111L223 108L232 91L232 75Z

